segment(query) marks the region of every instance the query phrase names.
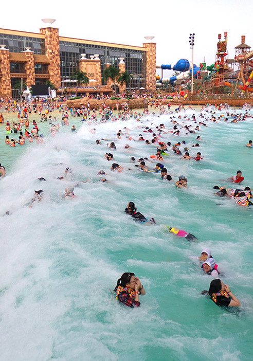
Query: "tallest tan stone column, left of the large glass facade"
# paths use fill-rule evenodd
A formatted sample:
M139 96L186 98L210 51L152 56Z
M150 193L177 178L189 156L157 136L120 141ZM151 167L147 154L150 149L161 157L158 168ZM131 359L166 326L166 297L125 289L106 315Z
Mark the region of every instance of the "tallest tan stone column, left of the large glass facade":
M46 56L50 61L48 65L49 80L57 87L61 86L60 69L60 43L59 29L48 27L40 29L40 33L45 35Z

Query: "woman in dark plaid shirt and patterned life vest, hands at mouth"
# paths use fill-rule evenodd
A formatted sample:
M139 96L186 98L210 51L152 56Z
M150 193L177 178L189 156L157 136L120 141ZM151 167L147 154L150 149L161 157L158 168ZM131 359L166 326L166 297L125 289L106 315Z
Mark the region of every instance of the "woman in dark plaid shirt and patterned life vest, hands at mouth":
M116 299L129 307L139 307L139 295L145 295L144 287L141 285L138 277L134 273L128 272L118 279L117 286L114 291L116 292Z

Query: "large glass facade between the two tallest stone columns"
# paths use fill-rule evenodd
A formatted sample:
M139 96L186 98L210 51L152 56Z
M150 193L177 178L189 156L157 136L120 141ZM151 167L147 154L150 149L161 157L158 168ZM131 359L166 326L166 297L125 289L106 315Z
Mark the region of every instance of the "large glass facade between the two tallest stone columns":
M101 74L106 68L106 63L118 67L119 58L124 58L125 70L133 76L130 86L132 88L141 87L144 86L144 52L142 50L60 41L61 77L63 80L69 79L71 74L78 69L81 54L86 54L87 59L90 55L99 54Z

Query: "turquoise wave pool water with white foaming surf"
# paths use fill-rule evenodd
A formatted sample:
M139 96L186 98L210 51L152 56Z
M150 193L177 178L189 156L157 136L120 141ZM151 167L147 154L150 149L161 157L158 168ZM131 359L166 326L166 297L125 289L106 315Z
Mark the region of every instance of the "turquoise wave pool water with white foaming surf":
M186 114L193 113L198 114ZM212 189L228 185L219 179L238 169L245 177L242 186L253 186L253 149L245 147L253 138L252 119L208 122L197 134L161 138L186 140L191 156L201 151L204 158L198 163L179 159L171 150L164 160L174 180L181 174L188 177L187 190L162 182L159 174L140 172L130 162L132 156L155 154L154 146L124 136L117 140L117 131L124 127L134 139L139 134L151 139L136 128L146 124L154 129L162 122L172 128L168 115L148 119L88 125L71 118L77 134L71 134L70 127L60 128L55 138L49 125L38 121L44 145L26 143L23 148L5 145L5 125L0 124L0 161L8 172L0 182L0 215L11 213L0 216L2 360L252 358L253 210L217 199ZM197 135L201 147L191 148ZM101 138L109 141L96 145ZM110 141L116 143L112 153L123 167L121 173L110 171L112 162L104 158ZM155 163L147 165L154 168ZM57 179L66 167L75 180ZM99 182L101 169L108 183ZM75 200L64 200L66 186L87 178L89 182L75 187ZM43 201L27 207L38 189L44 190ZM157 225L136 224L125 215L130 201ZM198 242L167 233L165 225L193 233ZM224 283L241 301L241 312L223 310L201 295L211 279L189 257L200 255L204 247L211 249ZM112 290L123 272L134 272L146 288L139 309L115 301Z

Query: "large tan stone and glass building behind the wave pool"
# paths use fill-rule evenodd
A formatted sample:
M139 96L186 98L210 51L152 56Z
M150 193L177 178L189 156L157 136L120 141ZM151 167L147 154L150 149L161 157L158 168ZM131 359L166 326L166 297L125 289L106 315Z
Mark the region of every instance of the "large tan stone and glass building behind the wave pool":
M75 70L87 73L91 86L101 84L109 64L132 75L131 88L155 91L156 44L142 47L66 38L46 24L40 33L0 29L0 96L14 97L15 84L43 85L47 80L58 88Z

